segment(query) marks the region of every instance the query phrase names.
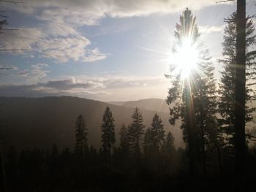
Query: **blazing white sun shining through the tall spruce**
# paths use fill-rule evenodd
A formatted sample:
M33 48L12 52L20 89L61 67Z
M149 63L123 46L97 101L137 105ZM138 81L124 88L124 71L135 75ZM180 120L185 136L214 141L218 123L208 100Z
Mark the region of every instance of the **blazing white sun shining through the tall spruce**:
M176 47L173 53L173 64L176 73L181 74L181 78L187 79L192 72L196 72L198 63L198 50L190 39L182 39L181 45Z

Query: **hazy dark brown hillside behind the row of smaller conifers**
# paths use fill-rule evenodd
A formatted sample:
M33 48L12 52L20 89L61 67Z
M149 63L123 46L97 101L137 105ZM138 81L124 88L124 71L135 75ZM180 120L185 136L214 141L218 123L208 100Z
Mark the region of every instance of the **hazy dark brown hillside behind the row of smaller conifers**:
M133 104L133 103L132 103ZM140 106L143 106L141 102ZM127 105L127 104L125 104ZM132 121L134 105L117 106L102 101L81 99L77 97L45 97L45 98L6 98L0 97L1 135L7 135L8 145L18 149L34 147L50 148L56 143L60 148L71 147L75 144L75 120L82 114L89 131L89 145L100 147L100 125L105 107L110 107L116 120L116 140L122 123L129 125ZM139 107L140 107L139 106ZM151 105L153 107L154 105ZM142 107L141 107L142 108ZM155 111L140 111L146 126L150 126ZM158 109L158 108L156 108ZM162 118L165 130L171 131L176 138L176 147L182 145L181 130L173 128L168 122L167 112L158 112Z

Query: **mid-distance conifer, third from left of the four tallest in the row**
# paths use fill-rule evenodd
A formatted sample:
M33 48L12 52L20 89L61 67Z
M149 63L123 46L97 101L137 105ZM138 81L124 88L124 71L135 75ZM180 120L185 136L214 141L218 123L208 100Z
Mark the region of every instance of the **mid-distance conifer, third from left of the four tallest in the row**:
M135 107L135 112L132 114L132 123L128 128L129 148L132 157L140 163L140 139L144 133L143 116L138 107Z

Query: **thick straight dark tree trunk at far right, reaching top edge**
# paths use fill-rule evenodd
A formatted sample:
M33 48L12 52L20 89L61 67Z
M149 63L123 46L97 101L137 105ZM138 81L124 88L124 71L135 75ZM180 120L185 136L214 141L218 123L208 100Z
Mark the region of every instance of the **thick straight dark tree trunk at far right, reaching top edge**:
M246 95L246 0L237 0L236 85L235 85L235 155L236 174L245 173L245 95Z

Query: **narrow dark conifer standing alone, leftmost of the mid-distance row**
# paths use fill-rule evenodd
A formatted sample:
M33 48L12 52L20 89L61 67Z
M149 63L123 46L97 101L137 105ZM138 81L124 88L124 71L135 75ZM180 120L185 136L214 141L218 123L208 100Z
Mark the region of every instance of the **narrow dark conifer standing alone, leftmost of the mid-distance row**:
M85 152L88 151L87 134L86 120L83 115L79 115L75 122L75 153L80 157L82 167Z

